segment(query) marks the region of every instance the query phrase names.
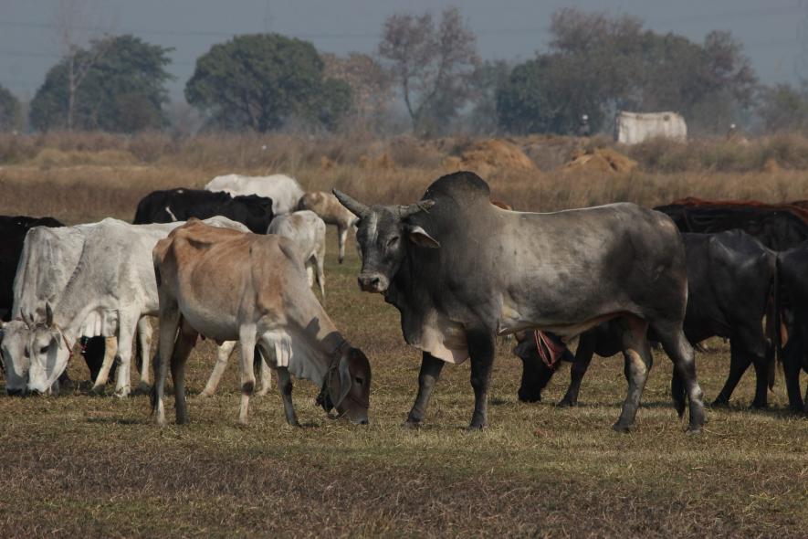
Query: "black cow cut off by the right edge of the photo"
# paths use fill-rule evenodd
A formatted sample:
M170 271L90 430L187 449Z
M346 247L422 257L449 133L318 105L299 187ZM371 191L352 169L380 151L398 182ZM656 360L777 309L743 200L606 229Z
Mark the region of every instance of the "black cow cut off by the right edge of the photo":
M790 299L789 339L782 350L782 367L789 406L808 413L808 388L803 402L800 371L808 373L808 243L778 253L777 266L782 293Z

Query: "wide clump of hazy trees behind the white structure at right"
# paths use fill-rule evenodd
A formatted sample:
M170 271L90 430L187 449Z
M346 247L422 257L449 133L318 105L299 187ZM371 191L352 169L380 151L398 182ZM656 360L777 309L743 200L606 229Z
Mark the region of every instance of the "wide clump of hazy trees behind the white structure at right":
M499 90L503 128L574 132L587 114L597 131L614 111L670 110L696 131L722 132L752 104L757 79L729 32L698 44L645 30L631 16L565 8L552 16L551 36L550 50L514 69Z

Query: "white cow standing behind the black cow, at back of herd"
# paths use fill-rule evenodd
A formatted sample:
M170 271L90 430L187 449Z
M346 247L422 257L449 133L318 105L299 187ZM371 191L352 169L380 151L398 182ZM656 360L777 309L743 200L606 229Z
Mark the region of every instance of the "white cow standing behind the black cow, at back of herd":
M272 199L272 213L276 216L295 211L300 197L303 196L303 188L298 181L286 174L269 176L226 174L216 176L205 185L205 190L225 191L232 196L266 196ZM264 230L266 229L267 227L264 227Z

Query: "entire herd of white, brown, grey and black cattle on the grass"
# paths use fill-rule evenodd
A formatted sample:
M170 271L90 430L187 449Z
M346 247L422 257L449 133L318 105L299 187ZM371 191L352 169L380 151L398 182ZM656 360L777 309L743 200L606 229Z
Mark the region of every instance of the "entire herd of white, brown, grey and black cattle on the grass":
M8 395L57 392L80 343L93 391L110 376L118 396L148 391L160 424L170 366L176 419L185 423L184 365L202 335L218 344L202 396L215 392L240 344L239 421L247 422L258 367L259 393L276 372L290 425L298 424L290 375L321 387L326 413L367 423L370 362L324 308L328 224L338 230L340 262L349 230L356 232L360 288L398 309L404 340L423 353L409 427L423 421L443 365L467 359L470 428L485 427L496 338L511 333L523 401L540 400L568 361L572 381L560 404L574 406L593 354L623 353L628 391L617 430L635 423L658 343L673 363L674 406L680 416L688 410L688 431L698 432L705 416L694 346L712 336L730 345L729 376L714 404L728 403L753 365L752 406L766 407L781 361L790 407L808 412L800 387L808 371L803 201L687 198L654 210L622 203L528 213L495 206L477 174L458 172L414 204L367 206L336 190L306 193L284 174L229 174L204 190L145 196L133 223L65 227L48 217L0 217ZM576 337L572 354L567 343Z

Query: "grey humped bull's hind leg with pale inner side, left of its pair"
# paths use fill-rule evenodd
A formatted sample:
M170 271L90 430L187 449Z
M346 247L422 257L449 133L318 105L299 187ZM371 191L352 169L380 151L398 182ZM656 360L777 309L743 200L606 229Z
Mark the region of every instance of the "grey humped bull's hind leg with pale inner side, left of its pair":
M628 432L635 422L640 397L645 389L648 372L654 362L646 333L648 322L635 316L625 316L623 325L623 355L625 358L625 379L628 381L628 394L625 396L623 411L612 428Z

